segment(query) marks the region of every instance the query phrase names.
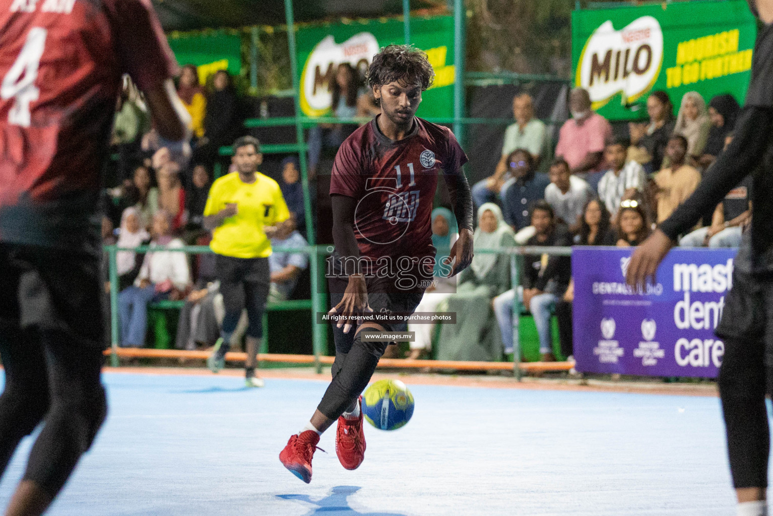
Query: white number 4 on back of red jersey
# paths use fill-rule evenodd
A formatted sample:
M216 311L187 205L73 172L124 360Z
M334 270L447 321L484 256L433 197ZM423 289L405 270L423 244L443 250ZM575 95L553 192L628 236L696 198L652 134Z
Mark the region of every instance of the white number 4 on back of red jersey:
M40 58L43 57L43 49L46 47L48 32L43 27L32 27L27 34L27 40L22 51L16 58L0 86L2 100L15 99L13 107L8 114L8 123L29 127L32 115L29 104L38 100L40 90L35 86L38 78Z

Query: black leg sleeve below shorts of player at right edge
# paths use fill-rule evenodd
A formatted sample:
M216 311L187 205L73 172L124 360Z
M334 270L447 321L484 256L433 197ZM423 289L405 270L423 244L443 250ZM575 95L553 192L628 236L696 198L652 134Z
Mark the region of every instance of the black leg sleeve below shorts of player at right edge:
M725 342L717 384L736 489L768 486L770 436L761 343Z

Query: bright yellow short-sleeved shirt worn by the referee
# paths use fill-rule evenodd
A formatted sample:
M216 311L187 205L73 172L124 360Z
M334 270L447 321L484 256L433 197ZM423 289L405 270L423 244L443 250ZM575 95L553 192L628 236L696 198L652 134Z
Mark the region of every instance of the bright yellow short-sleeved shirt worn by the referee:
M213 232L209 247L233 258L267 258L271 242L263 226L274 226L290 217L279 185L257 172L254 183L245 183L238 172L218 178L209 189L204 216L216 215L227 203L235 202L237 214L228 217Z

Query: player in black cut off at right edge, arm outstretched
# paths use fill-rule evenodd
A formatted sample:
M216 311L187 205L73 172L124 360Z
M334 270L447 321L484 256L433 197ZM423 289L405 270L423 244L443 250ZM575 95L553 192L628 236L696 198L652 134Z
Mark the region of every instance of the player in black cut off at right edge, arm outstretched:
M773 0L750 0L749 5L764 25L754 46L751 83L734 139L690 199L635 251L628 265L628 283L643 287L676 237L744 177L752 176L751 230L742 236L733 287L717 327L725 344L718 385L737 514L765 516L770 450L765 395L773 385Z

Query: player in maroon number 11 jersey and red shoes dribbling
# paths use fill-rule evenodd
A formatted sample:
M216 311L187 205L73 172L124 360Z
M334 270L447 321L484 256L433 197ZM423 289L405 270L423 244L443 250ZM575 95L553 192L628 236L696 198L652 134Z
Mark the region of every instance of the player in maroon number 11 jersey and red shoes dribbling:
M335 324L332 382L312 419L290 437L279 460L307 484L319 436L335 419L335 450L354 470L365 457L359 395L386 350L365 341L371 331L405 331L405 323L357 325L356 314L412 314L432 281L435 249L431 211L438 175L451 194L459 238L451 249L450 276L472 261L472 196L461 171L467 161L446 127L415 116L421 92L434 77L427 56L391 45L373 57L368 83L381 113L339 148L330 183L335 253L328 261ZM343 328L342 328L343 326ZM352 331L356 328L356 331Z

